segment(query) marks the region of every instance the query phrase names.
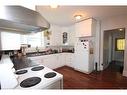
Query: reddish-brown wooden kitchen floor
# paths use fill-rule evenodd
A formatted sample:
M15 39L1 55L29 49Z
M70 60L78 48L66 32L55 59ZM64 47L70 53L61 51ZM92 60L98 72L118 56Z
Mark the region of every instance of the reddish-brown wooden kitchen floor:
M127 77L123 77L113 66L91 74L84 74L67 66L55 71L63 74L64 89L127 89Z

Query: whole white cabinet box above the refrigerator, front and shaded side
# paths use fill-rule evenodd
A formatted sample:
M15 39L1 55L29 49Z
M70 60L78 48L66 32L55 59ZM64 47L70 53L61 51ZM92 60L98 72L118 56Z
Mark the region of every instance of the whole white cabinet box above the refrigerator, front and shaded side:
M95 36L96 20L86 19L75 24L76 37Z

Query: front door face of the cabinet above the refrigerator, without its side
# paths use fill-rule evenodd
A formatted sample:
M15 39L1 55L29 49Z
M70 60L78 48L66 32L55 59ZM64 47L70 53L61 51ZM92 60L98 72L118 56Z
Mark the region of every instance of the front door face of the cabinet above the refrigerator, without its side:
M76 23L75 30L76 37L92 36L92 19Z

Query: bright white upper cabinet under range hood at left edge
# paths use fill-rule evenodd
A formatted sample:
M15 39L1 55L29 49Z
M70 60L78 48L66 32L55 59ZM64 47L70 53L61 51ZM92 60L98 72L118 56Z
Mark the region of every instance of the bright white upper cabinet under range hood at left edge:
M0 50L19 50L20 34L0 32Z

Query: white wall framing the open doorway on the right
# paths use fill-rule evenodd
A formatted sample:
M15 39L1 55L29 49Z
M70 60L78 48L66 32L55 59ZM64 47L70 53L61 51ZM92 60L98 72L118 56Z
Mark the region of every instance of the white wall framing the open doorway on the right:
M108 19L104 19L101 21L101 38L100 38L100 67L101 70L103 69L103 66L101 65L103 63L103 32L104 30L111 30L116 28L125 28L125 32L127 32L127 16L116 16L116 17L110 17ZM127 33L125 33L125 39L127 39ZM126 51L124 53L125 59L124 59L124 71L123 75L127 76L127 41L126 41Z

